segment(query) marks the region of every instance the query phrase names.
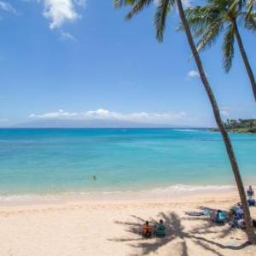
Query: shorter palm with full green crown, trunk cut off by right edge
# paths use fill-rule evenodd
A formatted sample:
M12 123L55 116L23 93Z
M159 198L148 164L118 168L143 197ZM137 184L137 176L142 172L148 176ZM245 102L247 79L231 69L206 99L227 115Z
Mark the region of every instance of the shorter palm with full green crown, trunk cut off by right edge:
M207 0L206 5L186 9L185 16L195 37L200 38L197 44L199 51L211 47L221 32L224 32L223 66L226 73L229 73L232 67L236 39L256 101L256 82L253 70L237 26L237 21L241 21L239 24L243 24L247 30L256 31L254 4L255 0Z

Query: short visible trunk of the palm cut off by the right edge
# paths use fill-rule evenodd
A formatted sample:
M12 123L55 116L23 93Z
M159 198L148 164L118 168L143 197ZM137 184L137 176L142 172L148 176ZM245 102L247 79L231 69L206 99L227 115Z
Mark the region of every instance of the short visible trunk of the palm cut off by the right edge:
M244 62L244 65L247 69L247 74L248 74L248 77L251 81L252 88L253 88L253 96L254 96L254 99L256 101L256 82L255 82L255 78L254 78L254 75L253 75L253 70L252 70L252 68L250 66L250 63L248 61L247 53L246 53L246 51L243 47L243 44L242 44L242 41L241 41L241 36L240 36L240 33L238 31L238 27L237 27L237 24L236 24L236 20L233 20L232 23L233 23L234 32L235 32L235 35L236 35L236 40L237 40L237 43L238 43L238 46L239 46L239 49L240 49L240 52L241 52L241 57L242 57L242 60Z

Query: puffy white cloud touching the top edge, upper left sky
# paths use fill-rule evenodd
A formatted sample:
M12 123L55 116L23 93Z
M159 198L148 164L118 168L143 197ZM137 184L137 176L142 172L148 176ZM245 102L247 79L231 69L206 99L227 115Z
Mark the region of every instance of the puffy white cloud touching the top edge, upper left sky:
M66 22L78 20L77 7L84 7L85 0L44 0L44 17L50 20L49 28L60 28Z

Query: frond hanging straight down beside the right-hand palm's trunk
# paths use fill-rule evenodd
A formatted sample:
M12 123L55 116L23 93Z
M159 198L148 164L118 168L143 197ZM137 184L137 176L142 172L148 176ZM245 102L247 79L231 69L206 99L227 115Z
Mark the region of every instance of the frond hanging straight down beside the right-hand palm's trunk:
M232 24L230 24L227 27L227 30L225 32L224 44L223 44L223 52L224 52L223 66L226 73L229 73L230 68L232 67L232 61L234 57L234 40L235 40L234 27Z

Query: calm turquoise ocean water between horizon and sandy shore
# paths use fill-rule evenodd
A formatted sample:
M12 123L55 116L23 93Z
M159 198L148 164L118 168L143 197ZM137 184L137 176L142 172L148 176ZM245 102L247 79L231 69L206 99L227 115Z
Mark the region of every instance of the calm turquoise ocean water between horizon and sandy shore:
M230 137L245 183L256 183L256 136ZM216 132L0 130L1 196L232 184L224 144Z

